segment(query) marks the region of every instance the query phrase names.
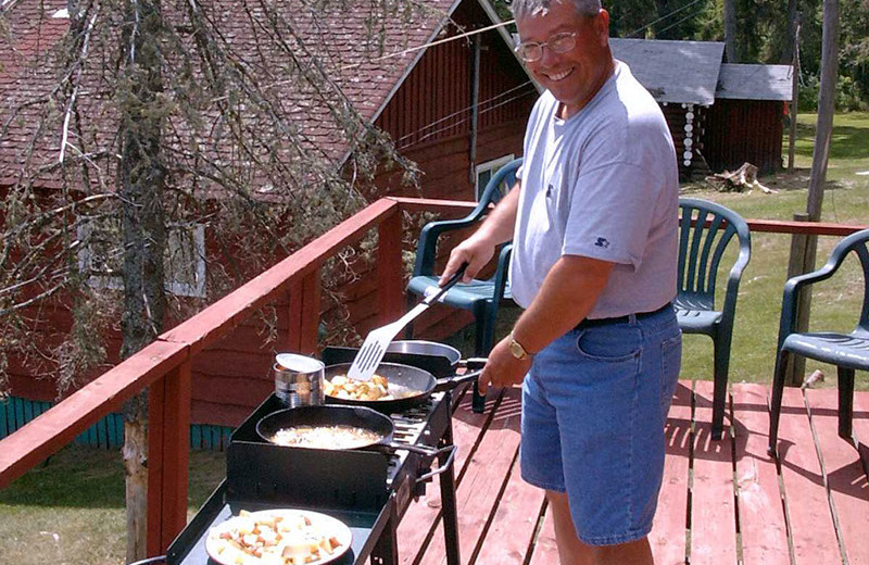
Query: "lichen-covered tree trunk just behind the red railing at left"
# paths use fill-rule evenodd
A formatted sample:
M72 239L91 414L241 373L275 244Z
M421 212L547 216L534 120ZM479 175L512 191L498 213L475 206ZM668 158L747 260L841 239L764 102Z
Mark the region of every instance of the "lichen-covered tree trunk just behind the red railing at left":
M123 34L124 73L121 110L121 222L124 244L124 313L121 319L126 359L160 335L165 311L162 209L165 168L160 151L163 90L159 53L162 16L159 0L127 4ZM127 561L146 556L147 393L124 405L124 465L127 479Z

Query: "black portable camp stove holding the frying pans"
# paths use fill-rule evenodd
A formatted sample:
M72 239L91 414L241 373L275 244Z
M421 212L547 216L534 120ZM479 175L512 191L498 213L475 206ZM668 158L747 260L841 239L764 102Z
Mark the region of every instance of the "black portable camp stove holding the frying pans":
M344 362L354 350L327 349L326 364ZM414 364L436 376L452 372L442 359L398 355L388 361ZM453 445L452 394L433 392L424 403L390 414L395 426L393 440L400 443L449 448ZM431 470L426 457L398 450L392 453L366 450L315 450L278 447L256 434L256 423L282 410L270 394L232 434L227 448L226 479L221 482L193 519L166 552L169 565L214 563L205 551L210 528L239 511L302 508L333 516L353 533L350 551L333 561L337 565L363 564L370 557L377 565L399 562L398 527L411 502L425 493L426 484L440 476L446 561L459 564L456 520L455 450L438 455Z

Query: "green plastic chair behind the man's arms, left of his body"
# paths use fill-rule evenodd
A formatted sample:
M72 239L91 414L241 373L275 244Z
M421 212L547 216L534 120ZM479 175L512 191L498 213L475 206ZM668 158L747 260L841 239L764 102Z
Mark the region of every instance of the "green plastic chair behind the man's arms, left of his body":
M489 205L500 202L516 184L516 171L521 162L522 160L519 158L499 168L486 185L477 206L467 216L462 219L431 222L423 228L419 234L414 273L407 284L408 305L416 301L415 296L425 296L428 289L438 287L440 274L434 272L438 238L449 231L467 228L482 221L489 212ZM507 280L511 248L511 243L501 247L494 275L487 279L474 279L467 284L459 282L450 289L442 300L444 304L468 310L474 314L475 354L477 356L487 356L494 347L495 318L499 306L502 301L511 299L509 281ZM412 332L413 329L408 328L408 337Z

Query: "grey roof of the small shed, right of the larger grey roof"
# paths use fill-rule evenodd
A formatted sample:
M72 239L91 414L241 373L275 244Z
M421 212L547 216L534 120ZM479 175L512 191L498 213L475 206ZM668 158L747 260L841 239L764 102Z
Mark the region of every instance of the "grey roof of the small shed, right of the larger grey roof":
M739 100L778 100L790 102L793 98L793 67L791 65L721 65L716 98Z

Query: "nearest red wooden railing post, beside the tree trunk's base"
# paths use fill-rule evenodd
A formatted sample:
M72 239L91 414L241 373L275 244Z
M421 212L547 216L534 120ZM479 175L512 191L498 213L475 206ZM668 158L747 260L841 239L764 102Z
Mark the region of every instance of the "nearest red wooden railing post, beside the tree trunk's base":
M149 555L164 554L187 525L191 376L188 360L149 389Z

